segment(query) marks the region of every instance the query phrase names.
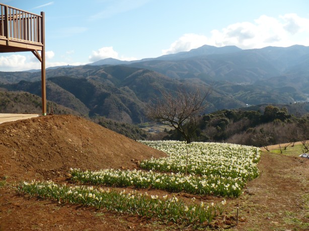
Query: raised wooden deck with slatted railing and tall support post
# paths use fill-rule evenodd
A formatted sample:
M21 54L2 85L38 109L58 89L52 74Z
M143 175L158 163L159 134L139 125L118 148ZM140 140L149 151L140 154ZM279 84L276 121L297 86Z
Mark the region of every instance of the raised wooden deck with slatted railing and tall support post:
M44 12L0 4L0 53L31 51L41 62L42 114L46 115Z

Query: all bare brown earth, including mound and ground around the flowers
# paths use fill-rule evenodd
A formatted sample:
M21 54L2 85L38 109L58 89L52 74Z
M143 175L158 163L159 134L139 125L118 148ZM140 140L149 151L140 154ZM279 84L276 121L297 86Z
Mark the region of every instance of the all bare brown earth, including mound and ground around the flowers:
M224 220L212 228L233 230L308 230L309 160L263 152L260 176L244 194L227 199ZM91 207L58 204L21 195L15 182L67 181L68 169L136 168L141 159L165 156L94 123L73 116L52 116L0 125L0 230L183 230L193 226L160 223ZM2 180L2 179L3 180ZM222 198L143 189L152 195L187 200ZM239 223L236 225L236 208Z

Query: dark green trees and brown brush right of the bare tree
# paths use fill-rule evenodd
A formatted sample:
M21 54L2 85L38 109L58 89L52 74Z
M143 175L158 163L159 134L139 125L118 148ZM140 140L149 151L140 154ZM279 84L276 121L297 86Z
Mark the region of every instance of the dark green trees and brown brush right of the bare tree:
M301 106L309 111L309 103ZM227 142L257 147L309 139L309 113L296 118L286 107L267 105L262 108L263 112L260 109L231 109L205 114L200 117L192 138L194 141ZM191 128L189 126L185 126L188 132ZM176 130L166 131L163 139L183 140Z

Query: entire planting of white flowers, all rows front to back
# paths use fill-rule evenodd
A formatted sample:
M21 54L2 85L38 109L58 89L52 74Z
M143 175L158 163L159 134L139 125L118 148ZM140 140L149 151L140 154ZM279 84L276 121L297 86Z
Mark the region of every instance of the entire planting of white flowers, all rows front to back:
M223 143L140 141L168 154L166 158L144 160L140 170L71 169L71 179L81 183L135 188L156 188L173 192L237 197L247 180L258 176L260 149ZM187 174L186 174L187 172ZM156 216L179 223L200 223L221 215L225 200L217 204L184 203L175 196L163 198L147 193L126 193L93 186L57 185L47 182L22 182L19 191L57 201L91 205L107 210ZM195 199L193 197L193 199Z

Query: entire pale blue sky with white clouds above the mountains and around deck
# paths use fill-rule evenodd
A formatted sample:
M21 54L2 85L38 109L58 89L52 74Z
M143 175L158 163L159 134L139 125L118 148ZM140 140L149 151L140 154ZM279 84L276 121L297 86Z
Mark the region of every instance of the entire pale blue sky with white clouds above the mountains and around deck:
M306 0L4 0L45 12L46 66L136 60L204 44L309 46ZM39 69L31 52L0 54L0 71Z

